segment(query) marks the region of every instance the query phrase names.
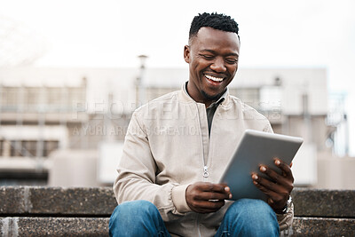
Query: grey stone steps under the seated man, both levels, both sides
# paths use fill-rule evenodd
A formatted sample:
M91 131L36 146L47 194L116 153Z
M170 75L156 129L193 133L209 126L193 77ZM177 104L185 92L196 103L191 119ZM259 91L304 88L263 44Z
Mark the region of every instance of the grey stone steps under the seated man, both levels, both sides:
M295 188L294 236L355 236L355 190ZM107 236L111 187L0 187L1 236ZM16 235L17 234L17 235Z

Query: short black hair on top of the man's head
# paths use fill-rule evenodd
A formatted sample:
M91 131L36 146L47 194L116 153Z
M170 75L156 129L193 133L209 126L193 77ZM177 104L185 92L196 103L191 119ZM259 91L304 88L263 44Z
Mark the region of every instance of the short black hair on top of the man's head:
M197 36L200 28L214 28L227 32L233 32L237 35L239 31L238 23L235 20L233 20L230 16L218 14L217 12L204 12L195 16L193 18L193 22L191 22L189 40L191 40L193 36Z

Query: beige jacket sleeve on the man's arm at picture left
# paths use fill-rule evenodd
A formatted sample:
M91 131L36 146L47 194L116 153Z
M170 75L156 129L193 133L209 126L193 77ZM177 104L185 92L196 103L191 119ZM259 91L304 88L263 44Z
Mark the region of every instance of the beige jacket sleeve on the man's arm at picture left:
M146 128L139 122L137 111L132 115L124 140L122 157L114 181L114 195L120 204L123 201L151 201L159 209L164 221L177 219L184 213L177 211L173 203L174 183L155 184L157 171L151 153Z

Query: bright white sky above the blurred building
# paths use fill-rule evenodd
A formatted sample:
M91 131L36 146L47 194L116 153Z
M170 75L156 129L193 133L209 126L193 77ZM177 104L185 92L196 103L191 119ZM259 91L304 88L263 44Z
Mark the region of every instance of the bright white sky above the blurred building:
M138 67L140 54L147 67L186 67L183 47L199 12L239 23L240 68L327 68L328 91L347 95L355 118L352 0L0 0L0 30L1 20L31 29L20 35L41 51L36 67Z

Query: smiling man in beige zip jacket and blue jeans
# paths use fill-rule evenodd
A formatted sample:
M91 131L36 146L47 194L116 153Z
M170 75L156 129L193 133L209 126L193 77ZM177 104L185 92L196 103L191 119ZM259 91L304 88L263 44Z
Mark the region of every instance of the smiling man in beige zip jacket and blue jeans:
M217 184L244 130L272 132L263 115L226 89L239 52L233 19L217 13L194 17L184 48L188 82L132 115L114 182L119 205L110 235L278 236L291 225L293 177L279 159L275 165L283 176L260 167L274 182L250 177L268 203L228 201L230 187Z

